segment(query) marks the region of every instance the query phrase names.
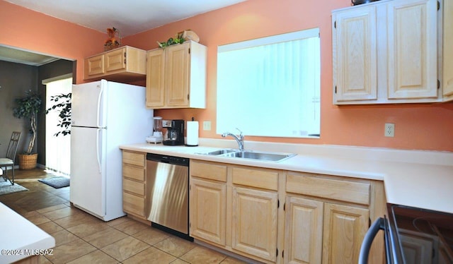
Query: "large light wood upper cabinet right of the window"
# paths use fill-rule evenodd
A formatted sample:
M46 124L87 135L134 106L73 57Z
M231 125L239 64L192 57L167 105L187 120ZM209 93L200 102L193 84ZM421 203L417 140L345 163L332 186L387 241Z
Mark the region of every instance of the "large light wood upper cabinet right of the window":
M443 2L376 1L333 11L333 104L453 99L453 12Z

